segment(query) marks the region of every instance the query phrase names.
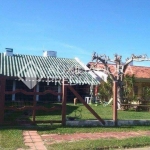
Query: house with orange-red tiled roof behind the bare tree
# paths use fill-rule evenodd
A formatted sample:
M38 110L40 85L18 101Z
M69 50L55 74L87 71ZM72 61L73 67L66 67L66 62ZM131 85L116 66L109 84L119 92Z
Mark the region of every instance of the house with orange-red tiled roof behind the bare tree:
M92 67L94 63L89 62L88 67ZM111 73L114 76L117 76L117 68L115 64L108 64ZM105 73L104 65L102 63L97 63L95 66L96 70L95 74L98 74L101 79L105 82L107 81L107 73ZM138 99L150 100L150 67L144 66L134 66L128 65L125 75L134 75L135 84L134 84L134 94Z

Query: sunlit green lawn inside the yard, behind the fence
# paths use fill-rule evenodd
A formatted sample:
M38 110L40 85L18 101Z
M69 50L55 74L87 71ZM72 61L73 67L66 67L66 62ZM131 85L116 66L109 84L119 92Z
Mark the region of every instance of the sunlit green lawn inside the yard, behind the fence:
M95 106L94 104L90 105L92 109L97 112L102 119L112 119L113 116L113 110L112 106L108 105L106 107L103 107L102 105ZM87 120L87 119L96 119L93 114L89 112L89 110L81 103L78 103L77 105L73 104L67 104L67 110L66 115L71 117L77 117L77 119ZM55 111L55 112L41 112L37 113L36 120L50 120L50 119L61 119L61 111ZM128 110L128 111L121 111L118 110L118 119L120 120L128 120L128 119L150 119L150 112L148 111L134 111L134 110Z

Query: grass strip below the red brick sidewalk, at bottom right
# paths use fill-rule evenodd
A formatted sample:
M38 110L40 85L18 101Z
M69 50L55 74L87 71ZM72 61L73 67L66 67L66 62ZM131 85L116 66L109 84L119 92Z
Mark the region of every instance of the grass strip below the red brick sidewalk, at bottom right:
M150 145L150 137L118 139L83 140L47 146L48 150L113 150L117 148L143 147Z

